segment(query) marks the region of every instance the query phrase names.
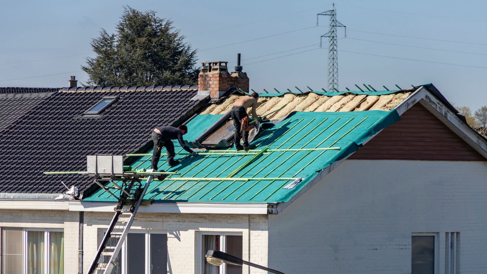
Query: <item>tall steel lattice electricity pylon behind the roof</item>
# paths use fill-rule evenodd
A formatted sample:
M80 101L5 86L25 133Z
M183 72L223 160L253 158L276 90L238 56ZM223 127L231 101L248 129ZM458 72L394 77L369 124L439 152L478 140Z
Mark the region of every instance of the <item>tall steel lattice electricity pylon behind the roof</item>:
M319 38L319 47L321 47L321 40L323 37L328 37L328 91L338 90L338 53L337 53L337 27L345 28L345 37L347 37L347 27L337 21L337 10L335 3L333 9L318 13L316 15L316 25L318 26L318 15L330 16L330 27L328 32Z

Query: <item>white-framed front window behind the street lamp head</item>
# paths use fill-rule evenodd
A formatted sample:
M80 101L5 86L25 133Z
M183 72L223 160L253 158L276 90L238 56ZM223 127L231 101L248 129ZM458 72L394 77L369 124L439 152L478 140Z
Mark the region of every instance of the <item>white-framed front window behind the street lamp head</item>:
M242 266L208 263L205 254L208 250L219 250L242 258L242 235L236 233L206 233L199 235L199 274L242 274Z

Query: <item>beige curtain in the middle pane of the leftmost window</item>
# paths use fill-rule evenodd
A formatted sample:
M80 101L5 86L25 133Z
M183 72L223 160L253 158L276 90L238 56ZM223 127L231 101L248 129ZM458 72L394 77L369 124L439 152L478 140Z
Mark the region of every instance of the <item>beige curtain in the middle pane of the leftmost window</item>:
M44 232L29 231L27 234L27 272L44 274Z

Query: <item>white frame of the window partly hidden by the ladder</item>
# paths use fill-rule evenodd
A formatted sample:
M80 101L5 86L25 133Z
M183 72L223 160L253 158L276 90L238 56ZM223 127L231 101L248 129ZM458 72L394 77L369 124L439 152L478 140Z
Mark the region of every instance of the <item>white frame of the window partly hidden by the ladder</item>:
M105 236L105 233L107 233L107 229L102 229L100 233L100 241L103 241L103 236ZM127 234L127 237L131 233L137 233L137 234L145 234L144 236L144 256L145 256L145 261L144 261L144 266L146 269L146 272L144 274L153 274L152 269L150 269L150 265L152 263L151 261L151 252L150 252L150 235L151 234L165 234L166 236L168 235L167 231L147 231L147 230L129 230L129 233ZM121 274L127 274L127 237L124 239L124 242L122 244L122 248L120 249L120 268L121 268ZM167 251L167 244L166 244L166 251ZM169 252L166 252L167 258L166 258L166 271L168 268L168 262L169 262Z

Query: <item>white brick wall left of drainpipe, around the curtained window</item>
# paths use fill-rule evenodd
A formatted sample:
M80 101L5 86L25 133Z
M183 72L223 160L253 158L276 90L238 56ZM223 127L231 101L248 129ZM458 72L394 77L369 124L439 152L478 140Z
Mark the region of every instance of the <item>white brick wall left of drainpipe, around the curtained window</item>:
M63 229L65 274L78 273L78 222L78 212L57 210L0 210L0 227Z

